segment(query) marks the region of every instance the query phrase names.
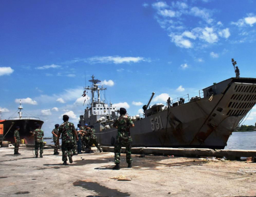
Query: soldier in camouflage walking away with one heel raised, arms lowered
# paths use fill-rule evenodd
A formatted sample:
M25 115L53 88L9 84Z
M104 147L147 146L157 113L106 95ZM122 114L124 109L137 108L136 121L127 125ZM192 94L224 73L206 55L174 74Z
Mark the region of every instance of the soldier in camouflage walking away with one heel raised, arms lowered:
M59 127L59 133L57 142L60 139L61 135L61 150L62 150L62 161L63 165L67 165L67 156L69 157L69 162L73 163L72 156L73 156L73 134L75 134L76 140L78 140L78 136L75 130L75 126L73 123L68 122L69 116L63 115L63 123Z

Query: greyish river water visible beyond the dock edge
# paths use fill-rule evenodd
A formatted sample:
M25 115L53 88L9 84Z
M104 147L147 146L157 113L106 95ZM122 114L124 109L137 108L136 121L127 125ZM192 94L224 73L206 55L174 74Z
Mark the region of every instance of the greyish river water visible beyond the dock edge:
M46 141L46 144L54 144L52 139L45 139L44 141ZM256 150L256 131L233 132L227 144L225 149Z

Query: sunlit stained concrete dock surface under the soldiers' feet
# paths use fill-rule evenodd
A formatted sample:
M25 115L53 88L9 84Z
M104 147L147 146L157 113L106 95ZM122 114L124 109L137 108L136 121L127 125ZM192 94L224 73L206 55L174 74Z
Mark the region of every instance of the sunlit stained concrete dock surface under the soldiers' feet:
M256 196L256 163L133 154L133 167L114 171L113 152L73 156L62 165L61 155L33 148L0 148L0 196ZM143 156L143 155L142 155Z

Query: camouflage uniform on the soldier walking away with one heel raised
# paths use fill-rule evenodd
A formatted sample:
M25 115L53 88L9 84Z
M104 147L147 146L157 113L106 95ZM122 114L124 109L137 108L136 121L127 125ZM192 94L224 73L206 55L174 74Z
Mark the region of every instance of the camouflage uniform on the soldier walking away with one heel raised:
M59 127L59 133L61 133L61 150L62 150L62 161L67 161L67 156L73 156L73 131L75 126L71 122L63 122Z

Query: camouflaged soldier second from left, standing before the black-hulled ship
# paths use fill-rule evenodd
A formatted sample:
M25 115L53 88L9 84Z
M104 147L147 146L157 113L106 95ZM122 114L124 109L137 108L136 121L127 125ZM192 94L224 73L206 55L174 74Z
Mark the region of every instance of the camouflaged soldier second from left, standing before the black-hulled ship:
M38 148L40 148L40 157L42 158L42 153L44 152L44 131L40 129L40 124L36 124L36 129L33 131L33 134L35 136L35 158L38 158Z

